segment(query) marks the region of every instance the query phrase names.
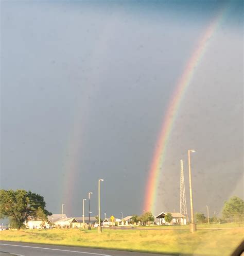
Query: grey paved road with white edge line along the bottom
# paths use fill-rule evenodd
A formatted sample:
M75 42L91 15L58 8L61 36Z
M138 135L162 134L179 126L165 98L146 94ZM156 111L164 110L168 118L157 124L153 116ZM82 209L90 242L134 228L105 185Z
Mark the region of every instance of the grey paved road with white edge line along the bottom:
M12 254L23 256L162 256L162 254L152 253L0 241L0 255L10 256Z

